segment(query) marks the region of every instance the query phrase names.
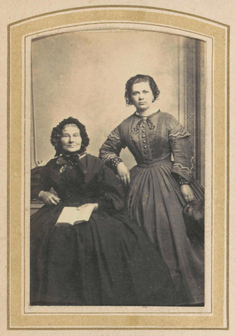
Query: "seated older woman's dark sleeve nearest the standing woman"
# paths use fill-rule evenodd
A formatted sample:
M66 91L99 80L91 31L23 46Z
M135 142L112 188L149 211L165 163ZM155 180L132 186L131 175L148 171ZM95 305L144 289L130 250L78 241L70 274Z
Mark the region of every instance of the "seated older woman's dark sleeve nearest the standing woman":
M102 163L97 175L99 185L99 197L97 203L99 209L107 212L120 211L126 205L126 195L120 180L112 169Z

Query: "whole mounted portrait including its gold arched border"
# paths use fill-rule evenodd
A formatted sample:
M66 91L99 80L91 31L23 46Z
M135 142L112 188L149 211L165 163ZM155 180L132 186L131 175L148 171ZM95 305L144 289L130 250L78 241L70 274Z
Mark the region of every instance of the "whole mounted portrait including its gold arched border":
M132 7L8 26L9 329L228 327L229 29Z

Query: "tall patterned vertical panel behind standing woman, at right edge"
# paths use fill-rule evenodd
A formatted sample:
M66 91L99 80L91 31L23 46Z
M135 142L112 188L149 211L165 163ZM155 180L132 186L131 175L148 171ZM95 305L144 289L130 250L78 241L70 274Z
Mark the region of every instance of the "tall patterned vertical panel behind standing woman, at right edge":
M179 120L191 134L195 177L205 184L205 43L179 38Z

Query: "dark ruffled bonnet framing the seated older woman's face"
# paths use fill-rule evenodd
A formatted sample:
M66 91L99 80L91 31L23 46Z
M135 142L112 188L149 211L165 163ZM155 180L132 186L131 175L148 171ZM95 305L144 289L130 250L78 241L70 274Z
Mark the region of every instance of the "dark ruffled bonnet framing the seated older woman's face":
M80 147L80 150L78 151L78 154L83 154L89 145L89 137L87 135L87 131L85 129L85 125L80 123L80 121L76 118L69 117L64 120L62 120L56 127L53 127L52 132L50 134L50 142L52 145L55 147L55 156L59 156L60 154L63 153L63 148L62 148L62 143L60 141L62 137L62 130L65 125L69 124L75 124L78 126L80 130L80 137L82 138L82 144Z

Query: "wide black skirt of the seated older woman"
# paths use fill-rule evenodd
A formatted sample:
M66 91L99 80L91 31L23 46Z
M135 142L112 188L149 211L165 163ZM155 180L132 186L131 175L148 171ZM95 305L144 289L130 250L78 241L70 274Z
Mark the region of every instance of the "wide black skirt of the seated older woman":
M175 304L162 255L125 211L55 225L62 209L31 216L31 305Z

